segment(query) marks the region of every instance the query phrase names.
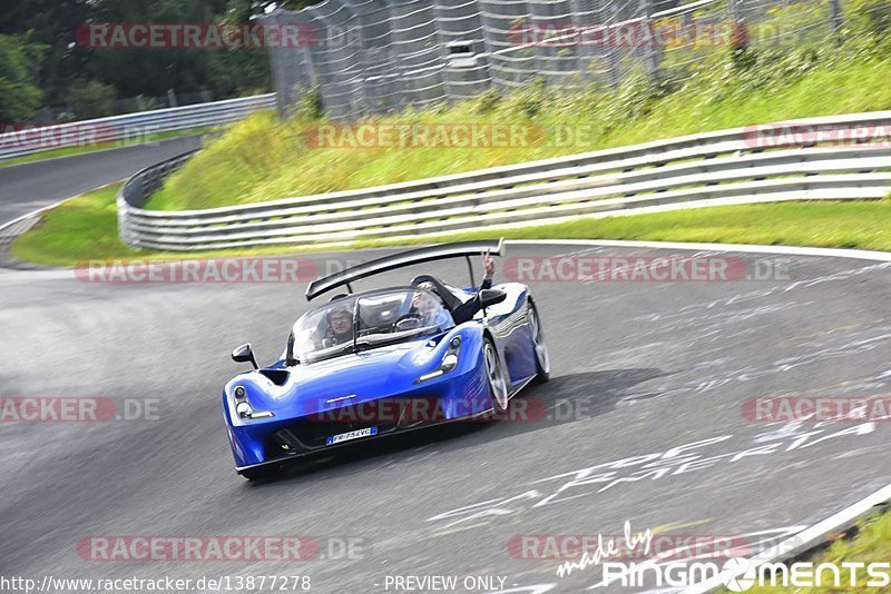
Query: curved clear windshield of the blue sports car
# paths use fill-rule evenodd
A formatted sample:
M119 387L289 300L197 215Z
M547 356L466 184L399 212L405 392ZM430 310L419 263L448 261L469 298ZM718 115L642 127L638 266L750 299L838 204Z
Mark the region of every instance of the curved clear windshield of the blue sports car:
M304 314L294 324L294 355L304 364L414 339L454 326L433 293L400 289L344 297Z

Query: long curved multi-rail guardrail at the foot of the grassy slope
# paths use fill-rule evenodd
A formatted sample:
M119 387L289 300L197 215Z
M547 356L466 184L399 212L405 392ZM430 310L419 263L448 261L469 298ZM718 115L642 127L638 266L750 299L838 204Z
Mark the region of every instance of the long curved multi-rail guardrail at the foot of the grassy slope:
M140 171L121 188L119 231L131 246L165 250L336 246L679 202L880 199L891 191L891 111L803 119L794 126L803 133L779 145L774 139L758 146L752 128L738 128L361 190L205 210L141 208L190 156L184 155ZM824 146L852 136L869 142Z

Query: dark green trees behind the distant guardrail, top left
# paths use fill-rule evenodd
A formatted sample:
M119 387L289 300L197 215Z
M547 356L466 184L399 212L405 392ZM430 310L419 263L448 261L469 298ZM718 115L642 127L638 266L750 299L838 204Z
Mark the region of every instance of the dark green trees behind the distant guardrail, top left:
M312 0L284 6L303 8ZM153 107L150 98L226 97L271 88L265 49L94 49L78 29L96 22L247 22L267 0L16 0L0 11L0 120L22 121L38 108L67 107L77 118L108 115L115 100L145 96L119 110ZM95 101L94 101L95 99ZM68 111L66 110L66 111Z

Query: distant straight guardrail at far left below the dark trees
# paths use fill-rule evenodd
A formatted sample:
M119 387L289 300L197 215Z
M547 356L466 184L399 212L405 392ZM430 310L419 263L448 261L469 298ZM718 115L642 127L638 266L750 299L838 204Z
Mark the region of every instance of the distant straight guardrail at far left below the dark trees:
M60 148L118 141L137 143L154 133L222 126L254 111L274 108L275 93L267 93L94 120L25 126L0 133L0 161Z

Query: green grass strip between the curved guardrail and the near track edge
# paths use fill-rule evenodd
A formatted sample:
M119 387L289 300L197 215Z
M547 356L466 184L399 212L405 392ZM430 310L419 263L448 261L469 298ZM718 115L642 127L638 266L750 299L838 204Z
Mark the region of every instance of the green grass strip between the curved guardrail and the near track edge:
M87 259L182 259L212 256L270 255L307 251L305 246L272 246L241 250L168 253L137 250L120 242L115 196L119 184L94 190L47 212L12 245L21 260L70 266ZM437 240L636 239L774 244L891 250L891 200L775 202L712 207L650 215L579 218L557 225L454 234ZM368 240L349 247L383 247L430 241Z

